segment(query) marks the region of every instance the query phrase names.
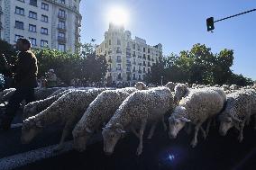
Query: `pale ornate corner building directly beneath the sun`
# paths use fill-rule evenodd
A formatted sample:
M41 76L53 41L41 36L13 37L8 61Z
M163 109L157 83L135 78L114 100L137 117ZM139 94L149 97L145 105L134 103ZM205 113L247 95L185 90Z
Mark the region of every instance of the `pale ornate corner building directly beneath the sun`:
M97 55L104 55L108 64L107 83L135 83L143 81L151 66L162 56L161 44L151 46L139 37L131 38L131 31L109 24L105 40L96 47Z

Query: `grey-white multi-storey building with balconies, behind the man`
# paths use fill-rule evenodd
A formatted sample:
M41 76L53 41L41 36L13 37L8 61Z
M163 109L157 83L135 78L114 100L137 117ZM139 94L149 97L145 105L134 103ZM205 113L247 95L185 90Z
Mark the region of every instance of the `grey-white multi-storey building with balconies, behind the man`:
M10 44L23 37L32 48L74 52L80 41L80 0L0 0L0 38Z

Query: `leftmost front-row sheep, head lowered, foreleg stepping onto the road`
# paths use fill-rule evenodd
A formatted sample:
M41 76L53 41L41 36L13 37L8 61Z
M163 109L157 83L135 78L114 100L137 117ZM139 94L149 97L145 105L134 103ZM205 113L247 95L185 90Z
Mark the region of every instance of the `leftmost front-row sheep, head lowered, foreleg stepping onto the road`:
M60 122L64 124L59 146L55 151L63 147L63 142L71 133L76 123L80 120L87 106L93 102L98 94L105 89L75 90L62 95L46 110L29 117L23 121L22 142L29 143L45 127Z

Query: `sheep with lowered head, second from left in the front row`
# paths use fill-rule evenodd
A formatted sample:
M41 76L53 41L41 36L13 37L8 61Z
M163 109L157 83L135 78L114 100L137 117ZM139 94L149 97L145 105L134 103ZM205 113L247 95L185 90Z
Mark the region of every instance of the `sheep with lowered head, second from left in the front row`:
M91 138L95 130L110 120L119 105L136 88L123 88L117 90L106 90L99 94L96 99L90 103L87 111L72 131L74 139L74 148L78 151L84 151L87 146L87 140Z

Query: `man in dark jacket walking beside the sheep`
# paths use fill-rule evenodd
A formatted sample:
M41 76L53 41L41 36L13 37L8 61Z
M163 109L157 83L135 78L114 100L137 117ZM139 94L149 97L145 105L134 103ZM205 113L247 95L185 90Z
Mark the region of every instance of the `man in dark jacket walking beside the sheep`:
M31 51L31 42L27 39L19 39L16 48L20 51L16 66L6 65L6 68L14 72L14 87L16 91L6 106L6 112L0 124L0 129L9 130L20 103L34 101L34 87L37 86L37 59Z

